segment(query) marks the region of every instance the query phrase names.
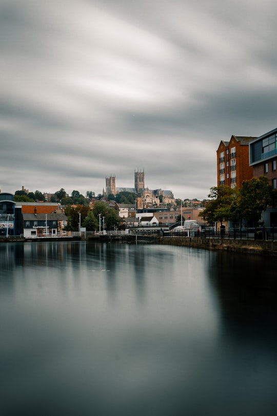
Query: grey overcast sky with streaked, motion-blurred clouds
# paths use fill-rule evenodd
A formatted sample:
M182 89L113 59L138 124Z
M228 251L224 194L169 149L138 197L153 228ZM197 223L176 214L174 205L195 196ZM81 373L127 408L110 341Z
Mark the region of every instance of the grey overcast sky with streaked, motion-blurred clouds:
M0 189L207 198L277 127L276 0L0 0Z

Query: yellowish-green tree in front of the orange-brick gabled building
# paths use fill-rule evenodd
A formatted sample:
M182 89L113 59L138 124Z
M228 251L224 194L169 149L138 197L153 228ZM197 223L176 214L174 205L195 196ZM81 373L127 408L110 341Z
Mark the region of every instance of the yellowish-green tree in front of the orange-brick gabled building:
M222 225L224 220L231 218L231 207L238 196L235 188L227 185L213 186L210 188L209 198L205 210L199 213L208 223L219 221Z

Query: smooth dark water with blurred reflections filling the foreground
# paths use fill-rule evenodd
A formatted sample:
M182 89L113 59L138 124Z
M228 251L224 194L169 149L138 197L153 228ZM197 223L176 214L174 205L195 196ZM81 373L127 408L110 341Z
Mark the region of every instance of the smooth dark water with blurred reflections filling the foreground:
M276 413L276 260L0 244L0 413Z

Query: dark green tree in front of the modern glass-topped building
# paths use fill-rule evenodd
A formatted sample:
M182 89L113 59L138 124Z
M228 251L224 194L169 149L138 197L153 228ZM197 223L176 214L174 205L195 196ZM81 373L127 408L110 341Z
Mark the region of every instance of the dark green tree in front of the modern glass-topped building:
M272 186L265 176L243 181L238 201L234 206L234 216L245 219L248 226L255 226L261 219L262 212L274 200Z

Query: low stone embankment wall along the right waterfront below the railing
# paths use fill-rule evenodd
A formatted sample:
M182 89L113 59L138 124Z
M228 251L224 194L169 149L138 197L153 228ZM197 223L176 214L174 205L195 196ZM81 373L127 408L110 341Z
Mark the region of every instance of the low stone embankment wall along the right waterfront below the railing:
M277 257L277 241L231 240L226 238L161 237L159 244Z

